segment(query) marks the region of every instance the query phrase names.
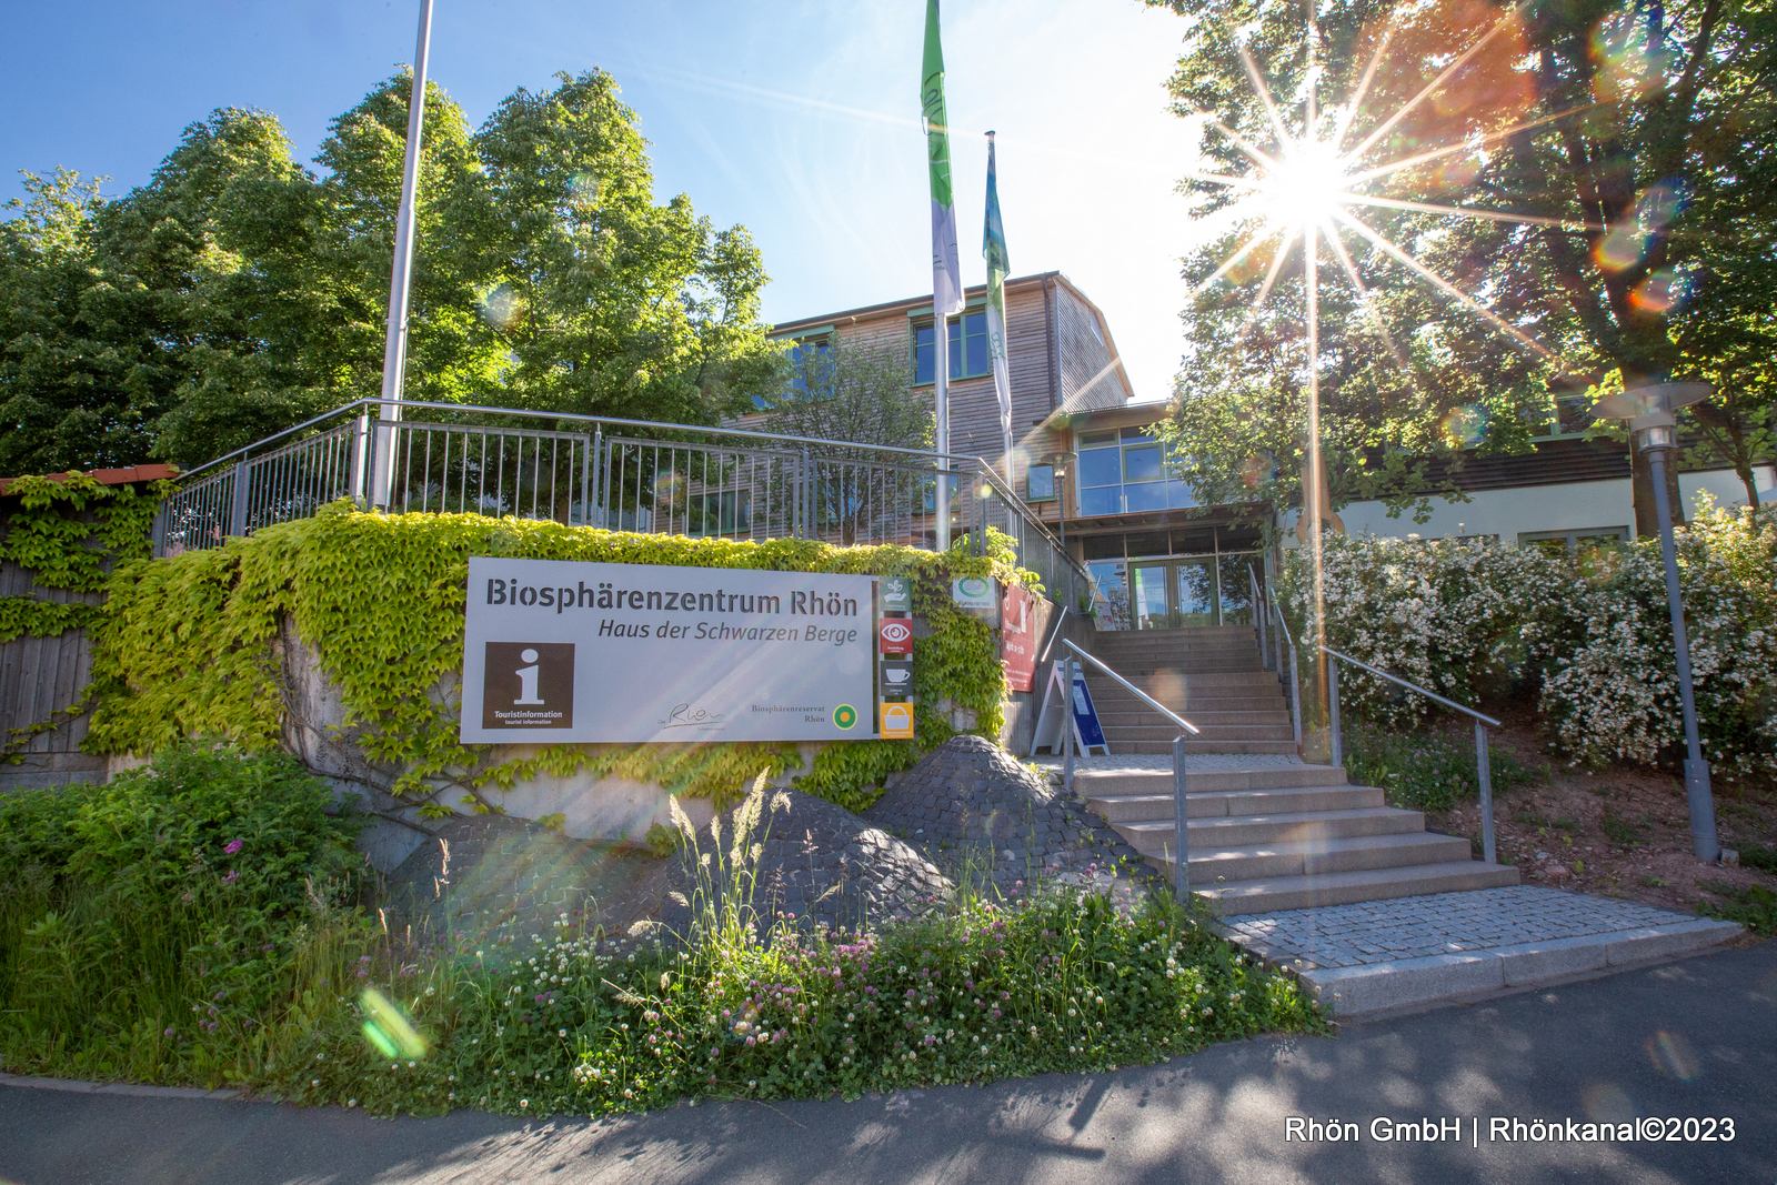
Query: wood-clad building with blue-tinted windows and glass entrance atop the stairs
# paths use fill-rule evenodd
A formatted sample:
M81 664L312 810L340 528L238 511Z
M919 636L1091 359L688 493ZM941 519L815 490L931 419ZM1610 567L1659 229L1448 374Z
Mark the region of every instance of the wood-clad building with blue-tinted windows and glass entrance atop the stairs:
M999 467L999 405L986 354L986 293L968 290L951 318L951 451ZM1201 506L1167 473L1151 426L1166 418L1157 393L1137 393L1104 313L1066 275L1006 281L1013 393L1013 485L1066 538L1096 583L1100 625L1160 629L1251 620L1251 574L1263 574L1262 540L1276 524L1292 545L1294 508L1263 503ZM908 297L773 327L801 348L844 339L904 352L915 389L931 393L931 297ZM1166 393L1169 394L1169 393ZM1054 458L1073 453L1068 471ZM1757 487L1773 483L1772 465ZM1633 538L1635 508L1626 444L1553 432L1534 451L1475 457L1457 478L1468 501L1430 499L1430 519L1390 517L1383 503L1340 508L1349 533L1393 538L1487 537L1578 547ZM1731 469L1679 474L1686 513L1708 494L1745 501ZM1251 574L1249 574L1251 570Z

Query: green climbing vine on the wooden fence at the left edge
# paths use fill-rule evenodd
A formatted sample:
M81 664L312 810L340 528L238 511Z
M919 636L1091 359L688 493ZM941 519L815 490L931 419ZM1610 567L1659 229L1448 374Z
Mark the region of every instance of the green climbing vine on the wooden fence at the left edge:
M162 492L158 481L142 492L133 485L101 485L84 473L14 478L7 483L7 497L18 497L20 506L5 519L0 561L30 572L37 588L98 592L108 561L147 554L149 526ZM92 625L100 613L101 606L84 600L0 597L0 643L57 638ZM82 693L46 720L9 728L0 737L0 760L23 760L20 753L34 737L80 718L89 702L91 695Z

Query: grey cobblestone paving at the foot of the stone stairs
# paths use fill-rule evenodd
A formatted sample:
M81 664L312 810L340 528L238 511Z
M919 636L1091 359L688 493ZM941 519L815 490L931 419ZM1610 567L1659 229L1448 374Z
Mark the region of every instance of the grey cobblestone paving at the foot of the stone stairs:
M1516 885L1255 913L1228 920L1224 931L1281 963L1363 966L1695 920L1638 901Z

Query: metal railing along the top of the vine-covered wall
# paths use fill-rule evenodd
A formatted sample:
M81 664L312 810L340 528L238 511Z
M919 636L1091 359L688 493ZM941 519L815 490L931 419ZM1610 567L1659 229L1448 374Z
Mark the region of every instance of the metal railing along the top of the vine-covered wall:
M936 489L947 481L952 545L981 554L999 531L1050 599L1073 606L1089 588L1036 512L977 457L414 400L398 402L403 419L382 419L382 407L347 403L181 474L156 513L155 554L220 547L341 497L393 513L931 549Z

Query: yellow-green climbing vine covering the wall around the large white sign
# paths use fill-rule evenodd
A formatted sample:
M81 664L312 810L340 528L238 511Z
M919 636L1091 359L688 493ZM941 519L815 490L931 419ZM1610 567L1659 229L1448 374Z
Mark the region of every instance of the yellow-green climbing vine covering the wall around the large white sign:
M864 807L888 773L956 732L945 705L997 736L1004 677L995 632L958 611L960 576L1029 579L1009 551L967 556L910 547L833 547L629 535L482 515L382 515L350 505L265 528L249 538L171 560L123 565L94 629L101 688L87 746L155 752L181 737L220 737L251 750L286 741L286 634L313 650L338 688L347 720L334 728L389 771L396 798L430 814L453 807L451 787L482 810L537 775L654 782L725 803L761 771L801 767L793 744L553 744L522 755L458 741L464 595L469 556L595 560L681 567L915 576L920 696L913 741L849 741L821 750L800 787Z

